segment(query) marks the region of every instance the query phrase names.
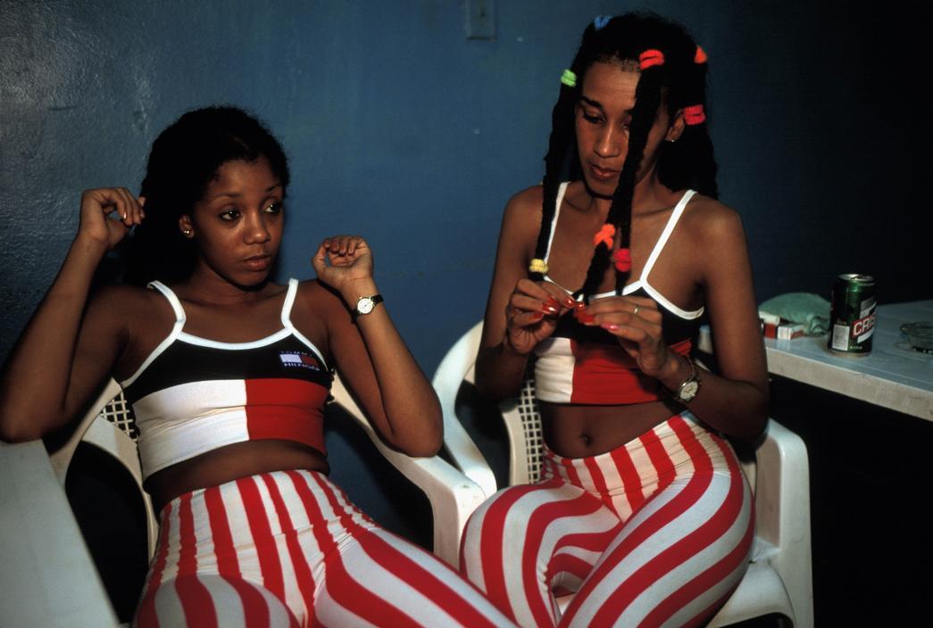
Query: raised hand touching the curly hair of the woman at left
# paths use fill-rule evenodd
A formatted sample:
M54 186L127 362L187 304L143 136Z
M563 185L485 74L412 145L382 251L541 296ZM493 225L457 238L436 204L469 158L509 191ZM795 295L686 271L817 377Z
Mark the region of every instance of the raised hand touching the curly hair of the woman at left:
M132 225L146 218L146 198L132 196L125 187L98 187L81 194L78 237L101 244L107 251L122 240Z

